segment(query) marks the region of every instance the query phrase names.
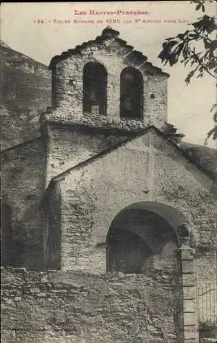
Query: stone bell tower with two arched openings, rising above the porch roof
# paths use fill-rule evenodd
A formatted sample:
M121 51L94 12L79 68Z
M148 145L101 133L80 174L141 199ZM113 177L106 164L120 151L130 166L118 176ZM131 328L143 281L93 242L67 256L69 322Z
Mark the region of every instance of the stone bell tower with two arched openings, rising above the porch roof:
M47 183L148 126L167 127L169 75L111 27L52 58L49 69L52 108L41 115Z

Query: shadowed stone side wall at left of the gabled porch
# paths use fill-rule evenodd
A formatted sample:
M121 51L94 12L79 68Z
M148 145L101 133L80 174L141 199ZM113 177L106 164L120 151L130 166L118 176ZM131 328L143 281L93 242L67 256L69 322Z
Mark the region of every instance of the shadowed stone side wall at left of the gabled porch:
M14 265L41 268L45 141L35 139L1 153L1 201L12 209Z

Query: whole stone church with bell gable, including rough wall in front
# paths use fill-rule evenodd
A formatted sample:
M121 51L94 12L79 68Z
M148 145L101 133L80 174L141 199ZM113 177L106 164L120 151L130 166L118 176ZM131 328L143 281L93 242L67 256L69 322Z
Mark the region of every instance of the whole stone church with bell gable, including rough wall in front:
M3 342L199 342L216 181L167 121L169 75L111 27L49 69L41 136L1 153Z

